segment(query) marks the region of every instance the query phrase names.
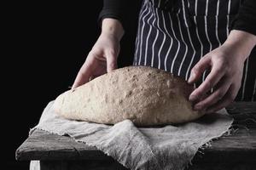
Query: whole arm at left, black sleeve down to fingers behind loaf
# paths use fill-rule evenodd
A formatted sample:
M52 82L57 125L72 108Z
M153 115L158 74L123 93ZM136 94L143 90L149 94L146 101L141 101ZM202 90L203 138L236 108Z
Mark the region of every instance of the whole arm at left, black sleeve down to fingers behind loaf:
M91 48L90 53L79 70L72 88L89 82L90 79L101 76L107 71L117 68L117 57L120 50L120 40L124 35L125 2L127 0L104 0L99 14L99 24L102 28L100 37Z

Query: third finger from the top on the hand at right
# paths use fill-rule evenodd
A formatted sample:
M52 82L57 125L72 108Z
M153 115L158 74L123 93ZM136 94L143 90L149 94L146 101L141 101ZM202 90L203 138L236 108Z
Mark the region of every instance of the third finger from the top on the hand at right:
M212 94L210 94L206 99L202 99L199 103L194 106L196 111L206 110L211 105L214 105L218 100L224 97L224 94L227 93L231 85L229 79L224 79L223 81L218 82L216 89Z

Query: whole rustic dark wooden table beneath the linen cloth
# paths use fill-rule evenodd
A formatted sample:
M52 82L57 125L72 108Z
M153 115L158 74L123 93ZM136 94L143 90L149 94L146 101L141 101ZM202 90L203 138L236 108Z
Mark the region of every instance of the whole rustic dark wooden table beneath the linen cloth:
M233 103L227 111L236 132L197 152L189 169L256 169L256 102ZM101 150L73 139L35 130L16 150L18 161L39 160L45 169L126 169Z

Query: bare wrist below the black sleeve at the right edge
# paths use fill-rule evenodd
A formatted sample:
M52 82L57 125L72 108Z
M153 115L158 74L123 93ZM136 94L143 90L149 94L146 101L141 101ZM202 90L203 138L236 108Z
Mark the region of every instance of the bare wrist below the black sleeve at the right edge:
M224 45L237 50L242 60L245 60L256 45L256 36L247 31L232 30Z

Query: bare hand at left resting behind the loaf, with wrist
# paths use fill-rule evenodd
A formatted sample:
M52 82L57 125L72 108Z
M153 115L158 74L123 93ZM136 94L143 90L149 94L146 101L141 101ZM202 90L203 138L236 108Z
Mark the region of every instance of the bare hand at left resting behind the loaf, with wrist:
M72 88L77 88L95 77L117 68L119 41L124 31L118 20L102 20L102 33L90 50Z

